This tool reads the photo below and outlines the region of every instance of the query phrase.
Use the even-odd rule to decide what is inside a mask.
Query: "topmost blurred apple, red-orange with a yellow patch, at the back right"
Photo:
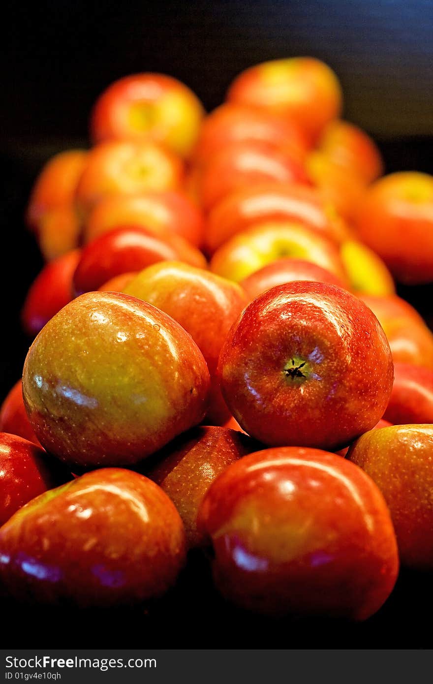
[[[228,102],[262,107],[293,121],[316,140],[342,107],[339,80],[313,57],[289,57],[252,66],[235,78]]]

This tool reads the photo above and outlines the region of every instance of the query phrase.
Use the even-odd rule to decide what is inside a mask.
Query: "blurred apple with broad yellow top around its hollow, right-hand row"
[[[317,264],[348,285],[338,247],[309,226],[292,221],[255,224],[226,241],[211,259],[211,271],[239,282],[283,258]]]

